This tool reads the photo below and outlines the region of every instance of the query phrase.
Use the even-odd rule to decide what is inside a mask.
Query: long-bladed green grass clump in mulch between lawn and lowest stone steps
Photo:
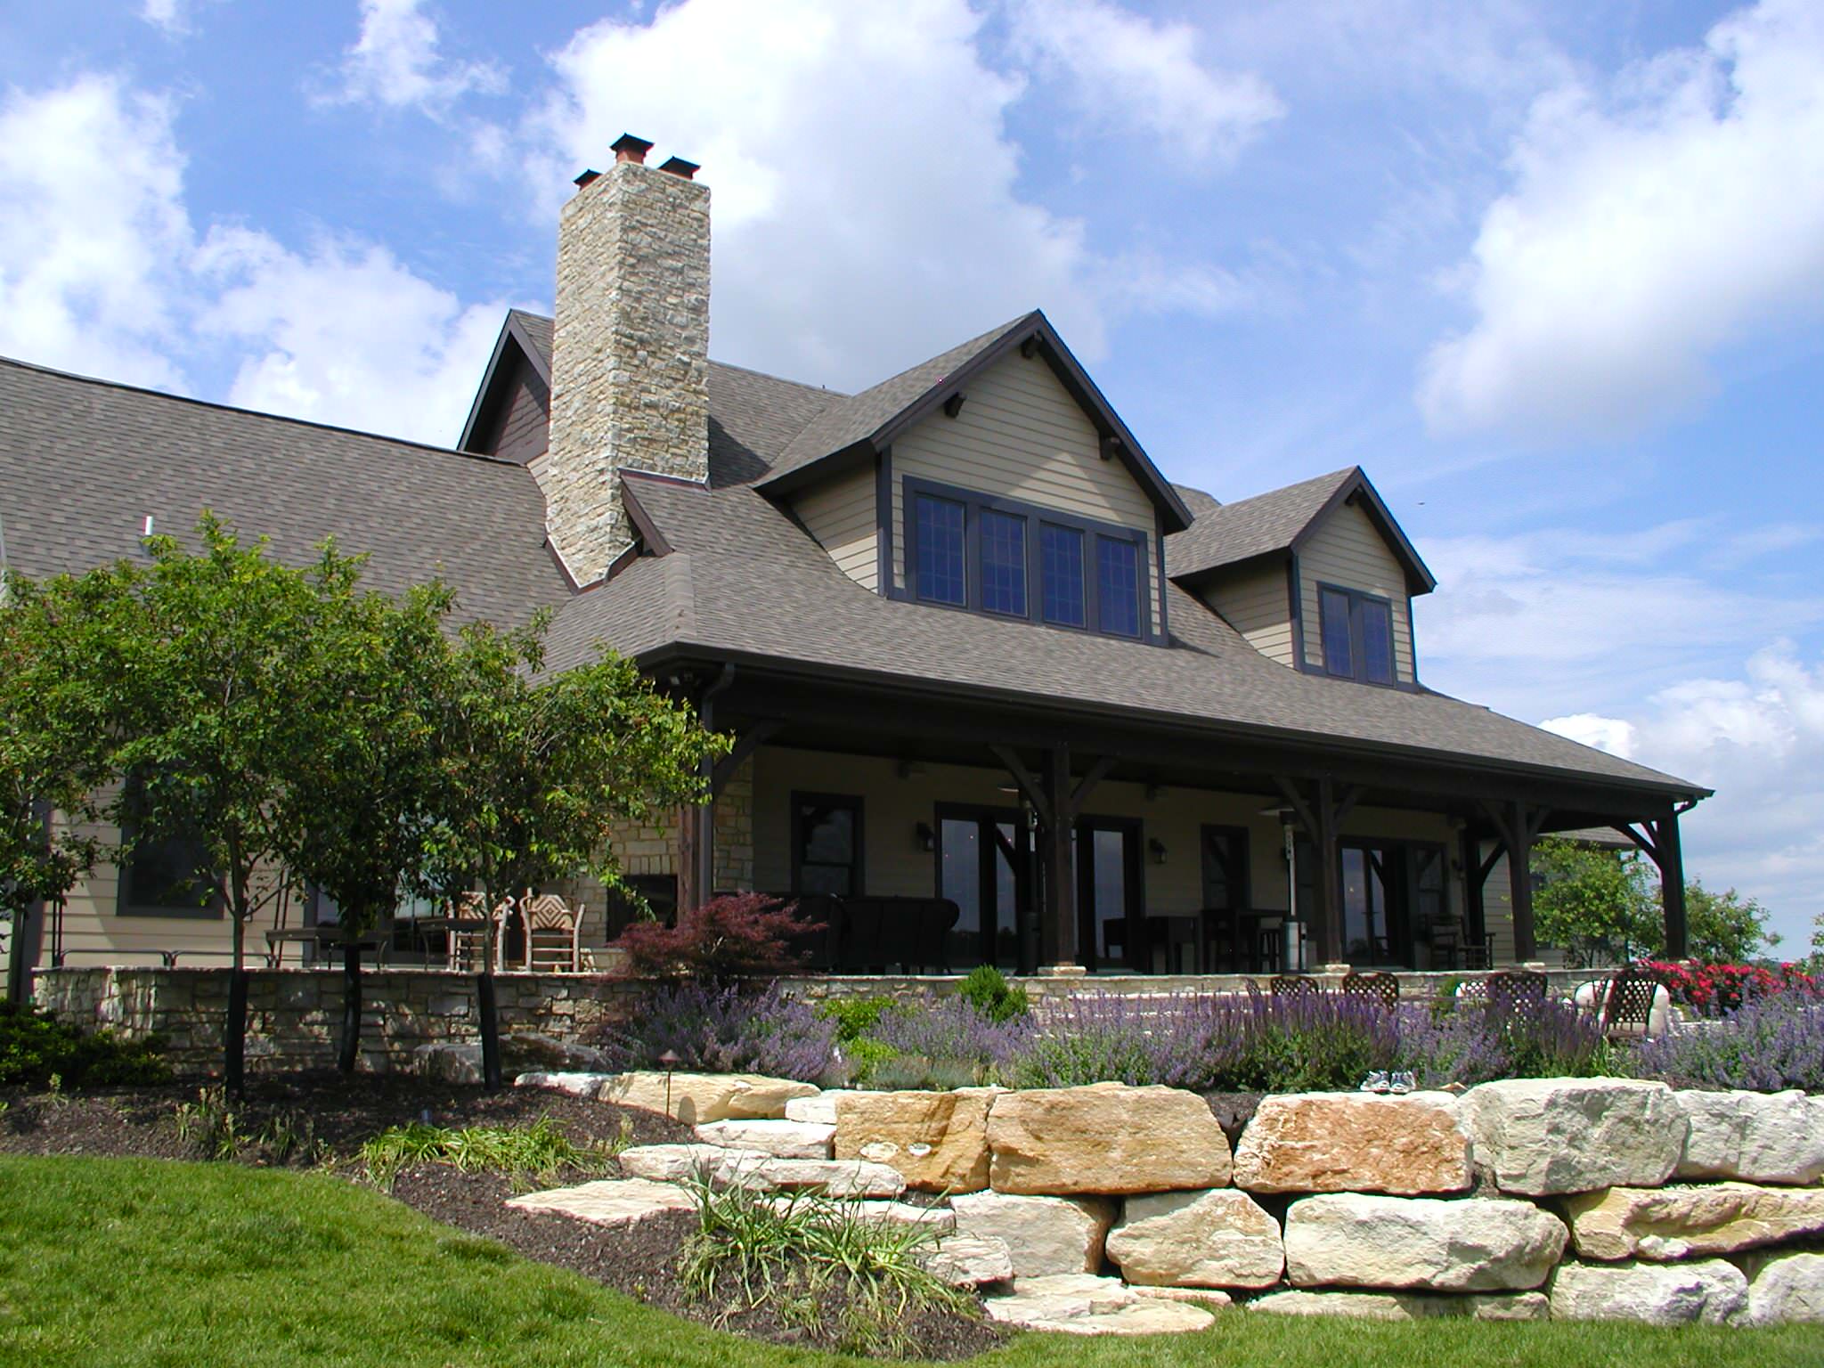
[[[697,1229],[679,1255],[684,1295],[717,1324],[772,1306],[806,1339],[861,1357],[907,1357],[928,1311],[976,1317],[974,1297],[925,1268],[930,1222],[888,1222],[859,1202],[688,1184]]]

